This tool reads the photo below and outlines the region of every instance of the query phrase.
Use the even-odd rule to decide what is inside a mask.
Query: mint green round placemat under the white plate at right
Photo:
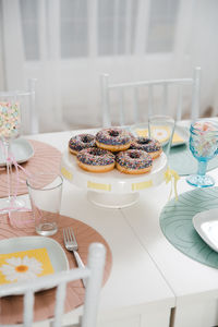
[[[194,215],[218,208],[218,187],[195,189],[170,201],[162,209],[159,220],[168,241],[189,257],[218,268],[218,253],[198,235],[192,225]]]

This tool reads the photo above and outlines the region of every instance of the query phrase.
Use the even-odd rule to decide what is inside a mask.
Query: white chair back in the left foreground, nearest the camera
[[[64,310],[66,283],[76,279],[87,278],[81,327],[95,327],[97,322],[97,308],[102,282],[105,257],[105,246],[101,243],[93,243],[88,249],[88,262],[86,267],[57,272],[52,276],[44,276],[33,280],[32,282],[22,281],[0,286],[0,298],[13,295],[17,292],[20,294],[24,294],[23,326],[31,327],[33,324],[34,293],[40,289],[57,287],[52,327],[60,327]]]

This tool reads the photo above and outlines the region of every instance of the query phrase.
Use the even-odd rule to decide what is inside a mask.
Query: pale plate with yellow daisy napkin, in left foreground
[[[66,255],[52,239],[24,237],[0,241],[0,284],[68,269]]]

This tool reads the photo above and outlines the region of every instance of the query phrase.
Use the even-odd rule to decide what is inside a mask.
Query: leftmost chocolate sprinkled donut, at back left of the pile
[[[78,134],[69,141],[69,150],[73,155],[77,155],[84,148],[95,147],[95,136],[92,134]]]

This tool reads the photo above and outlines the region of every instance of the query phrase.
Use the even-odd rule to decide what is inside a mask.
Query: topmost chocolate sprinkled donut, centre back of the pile
[[[124,129],[102,129],[96,134],[96,144],[99,148],[110,152],[123,152],[131,145],[131,134]]]

